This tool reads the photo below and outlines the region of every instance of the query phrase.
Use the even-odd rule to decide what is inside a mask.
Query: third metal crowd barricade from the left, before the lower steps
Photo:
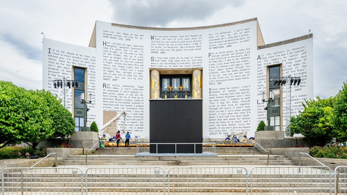
[[[168,194],[248,194],[244,167],[172,167],[168,170]]]

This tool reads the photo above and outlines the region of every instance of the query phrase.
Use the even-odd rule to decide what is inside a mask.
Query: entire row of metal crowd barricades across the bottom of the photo
[[[347,166],[24,167],[2,170],[0,194],[337,195],[346,178]]]

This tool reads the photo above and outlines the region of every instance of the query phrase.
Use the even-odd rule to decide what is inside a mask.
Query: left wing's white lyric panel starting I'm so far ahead
[[[72,110],[72,87],[73,83],[70,82],[70,87],[63,83],[66,80],[74,80],[72,78],[72,71],[74,67],[87,68],[88,70],[88,94],[92,94],[94,100],[98,100],[100,94],[96,92],[95,74],[96,68],[96,53],[94,48],[87,48],[83,46],[62,43],[54,40],[43,39],[43,88],[50,91],[53,95],[57,95],[62,99],[62,105],[70,112]],[[63,86],[54,88],[53,80],[62,80]],[[56,82],[57,84],[57,82]],[[64,95],[65,86],[65,95]],[[64,98],[65,96],[65,98]],[[92,121],[97,121],[96,112],[98,101],[94,101],[88,105],[90,111],[87,112],[87,123],[91,124]]]

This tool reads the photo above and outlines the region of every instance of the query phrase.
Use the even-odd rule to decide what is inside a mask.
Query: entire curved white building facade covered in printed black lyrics
[[[73,66],[87,68],[87,91],[95,97],[94,104],[88,105],[88,124],[95,120],[99,127],[105,123],[105,111],[126,111],[126,131],[142,138],[149,136],[149,99],[160,97],[159,91],[151,96],[152,69],[161,74],[202,70],[201,77],[193,77],[192,82],[200,80],[203,136],[211,138],[239,131],[247,131],[251,137],[259,121],[266,120],[261,103],[261,93],[266,91],[266,66],[280,64],[282,76],[303,78],[301,86],[291,88],[292,115],[304,98],[313,97],[312,38],[257,49],[256,20],[170,30],[97,21],[95,41],[96,49],[44,39],[43,88],[63,99],[52,80],[64,76],[71,79]],[[71,90],[66,95],[71,108]],[[285,101],[286,96],[282,97]],[[121,122],[117,128],[121,128]]]

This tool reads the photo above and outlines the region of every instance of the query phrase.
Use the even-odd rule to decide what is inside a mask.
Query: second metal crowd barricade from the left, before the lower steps
[[[86,170],[85,191],[165,194],[165,172],[161,167],[91,167]]]

